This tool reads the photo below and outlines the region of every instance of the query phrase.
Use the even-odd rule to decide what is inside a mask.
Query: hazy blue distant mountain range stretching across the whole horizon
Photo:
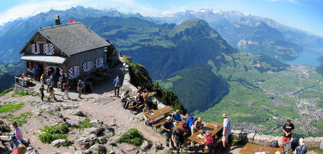
[[[61,22],[69,19],[98,17],[136,17],[157,24],[180,24],[185,20],[199,18],[206,21],[229,44],[247,51],[273,55],[283,59],[295,59],[303,50],[323,51],[323,39],[304,31],[281,25],[272,19],[245,15],[237,11],[216,11],[203,9],[199,11],[179,12],[173,16],[155,18],[143,17],[140,14],[122,14],[111,9],[97,10],[82,6],[72,7],[65,11],[50,10],[36,16],[19,19],[0,26],[0,61],[15,62],[25,42],[40,27],[53,25],[53,19],[60,15]],[[104,23],[105,21],[102,21]],[[103,31],[102,23],[96,23]],[[100,33],[98,31],[97,33]]]

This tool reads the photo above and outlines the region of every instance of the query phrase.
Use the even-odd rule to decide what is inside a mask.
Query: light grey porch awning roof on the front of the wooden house
[[[39,62],[45,61],[45,62],[49,62],[49,63],[62,64],[66,60],[66,57],[25,54],[20,59],[21,60],[30,60],[30,61],[39,61]]]

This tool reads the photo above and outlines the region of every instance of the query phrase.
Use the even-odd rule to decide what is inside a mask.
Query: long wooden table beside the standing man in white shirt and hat
[[[215,125],[218,125],[217,128],[215,128]],[[223,125],[221,125],[221,123],[211,122],[211,123],[207,123],[202,129],[205,130],[207,133],[212,133],[212,136],[214,136],[222,128],[223,128]],[[197,138],[197,135],[200,134],[200,131],[201,130],[195,132],[193,135],[188,137],[188,139],[192,140],[192,141],[195,141],[195,142],[197,142],[198,144],[201,145],[204,142],[204,139],[200,138],[200,137]]]

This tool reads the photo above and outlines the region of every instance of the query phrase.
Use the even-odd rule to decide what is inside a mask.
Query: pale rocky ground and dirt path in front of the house
[[[11,97],[13,92],[10,92],[5,96],[0,97],[1,105],[9,103],[18,104],[20,102],[25,102],[25,105],[14,113],[2,113],[0,116],[7,116],[9,114],[19,116],[21,113],[31,112],[32,115],[27,118],[27,123],[22,124],[20,127],[23,131],[24,137],[28,137],[30,139],[32,146],[37,149],[39,153],[84,153],[86,148],[82,143],[88,142],[84,140],[89,139],[89,136],[92,136],[92,139],[102,139],[105,136],[107,141],[102,142],[101,144],[107,149],[107,152],[143,153],[143,151],[138,147],[125,143],[119,144],[116,142],[122,134],[131,128],[138,129],[143,136],[152,141],[152,143],[160,141],[165,145],[164,137],[160,136],[159,133],[156,133],[151,127],[143,125],[142,113],[136,114],[135,112],[135,114],[132,114],[130,110],[124,110],[121,107],[119,98],[114,97],[113,80],[116,75],[121,76],[122,79],[122,64],[115,68],[111,68],[109,71],[111,78],[103,81],[100,85],[93,87],[93,92],[83,95],[81,100],[75,99],[78,94],[73,91],[69,93],[72,100],[62,99],[61,96],[63,93],[56,91],[57,101],[51,100],[43,102],[38,96]],[[71,146],[61,147],[42,143],[38,138],[38,135],[41,133],[39,129],[43,126],[60,124],[76,126],[81,120],[85,119],[85,117],[94,121],[93,123],[99,125],[99,128],[102,127],[102,129],[105,129],[103,136],[93,136],[91,133],[91,131],[99,131],[97,130],[98,128],[70,128],[71,131],[68,133],[68,139],[73,141],[74,144]],[[10,119],[3,120],[7,124],[11,123],[11,121],[9,121]],[[103,124],[96,121],[102,121]],[[113,129],[114,132],[110,131],[111,129]],[[238,153],[240,148],[241,147],[237,146],[232,147],[232,150],[227,153]],[[169,148],[156,151],[153,147],[147,151],[147,153],[169,152]],[[194,151],[189,151],[189,153],[194,153]]]

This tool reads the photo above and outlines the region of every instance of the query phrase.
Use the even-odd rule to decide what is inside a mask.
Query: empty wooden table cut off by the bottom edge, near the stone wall
[[[246,145],[243,146],[243,148],[239,151],[239,153],[249,154],[249,153],[263,152],[263,151],[265,151],[266,154],[275,153],[276,151],[279,151],[281,153],[283,152],[283,148],[247,143]]]

